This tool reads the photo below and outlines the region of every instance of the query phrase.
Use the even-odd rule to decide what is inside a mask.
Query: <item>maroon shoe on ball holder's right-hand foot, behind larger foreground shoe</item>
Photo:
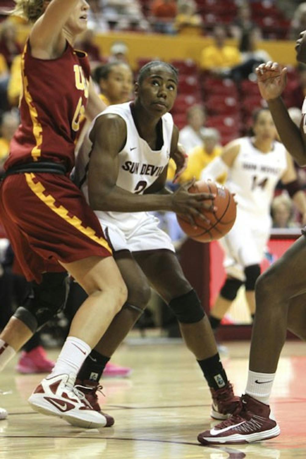
[[[212,404],[211,417],[218,420],[228,419],[237,409],[240,397],[236,397],[233,392],[233,386],[228,381],[226,386],[221,389],[212,389],[210,387]]]

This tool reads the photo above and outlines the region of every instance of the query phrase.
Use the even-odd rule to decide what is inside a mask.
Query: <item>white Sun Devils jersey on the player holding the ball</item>
[[[135,194],[143,194],[146,188],[152,185],[162,174],[169,162],[171,139],[173,131],[173,119],[170,113],[161,117],[163,144],[161,150],[152,150],[146,140],[139,136],[131,112],[131,102],[124,104],[111,105],[100,113],[92,122],[89,132],[83,141],[76,161],[76,178],[77,182],[83,182],[82,191],[88,202],[88,183],[87,170],[89,163],[89,154],[92,149],[92,142],[89,139],[90,131],[95,120],[112,113],[119,115],[127,126],[127,140],[119,152],[119,172],[116,185],[124,190]],[[103,154],[103,151],[101,152]],[[95,209],[94,209],[95,210]],[[102,212],[96,211],[96,215],[101,219],[110,221],[116,220],[122,230],[132,229],[135,224],[146,218],[146,212],[121,213],[121,212]]]

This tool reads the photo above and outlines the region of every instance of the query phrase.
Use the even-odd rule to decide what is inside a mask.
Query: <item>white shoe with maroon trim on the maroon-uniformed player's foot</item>
[[[92,408],[83,392],[74,386],[76,376],[56,375],[45,378],[28,399],[39,413],[59,416],[71,425],[95,429],[105,427],[106,416]]]

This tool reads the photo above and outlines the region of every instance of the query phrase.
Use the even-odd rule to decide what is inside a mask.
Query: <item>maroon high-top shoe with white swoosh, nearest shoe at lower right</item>
[[[243,395],[236,412],[228,420],[198,435],[204,445],[252,443],[277,437],[280,429],[270,417],[269,405]]]

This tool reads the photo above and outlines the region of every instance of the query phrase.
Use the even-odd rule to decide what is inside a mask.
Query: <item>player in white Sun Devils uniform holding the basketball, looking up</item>
[[[171,210],[192,219],[204,207],[209,218],[204,201],[209,195],[189,195],[190,182],[173,194],[165,189],[167,164],[178,142],[178,129],[168,113],[177,85],[178,74],[171,65],[155,61],[142,67],[135,101],[110,106],[96,117],[80,150],[76,175],[113,248],[128,286],[128,301],[95,348],[91,357],[96,362],[86,360],[78,382],[96,380],[95,392],[103,359],[111,357],[143,312],[150,283],[175,313],[186,345],[203,371],[213,398],[211,415],[226,419],[237,407],[237,397],[220,362],[209,320],[184,277],[170,238],[147,213]],[[99,409],[93,397],[90,401]]]

